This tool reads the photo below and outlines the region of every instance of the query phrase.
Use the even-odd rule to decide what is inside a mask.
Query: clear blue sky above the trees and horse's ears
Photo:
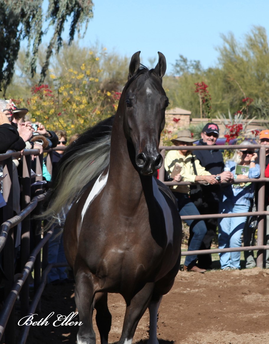
[[[204,68],[217,64],[215,47],[220,34],[232,31],[243,40],[253,25],[269,33],[269,0],[95,0],[94,18],[89,22],[81,46],[98,41],[128,58],[141,50],[141,62],[157,59],[161,51],[167,71],[179,54],[200,60]],[[156,60],[157,61],[157,60]]]

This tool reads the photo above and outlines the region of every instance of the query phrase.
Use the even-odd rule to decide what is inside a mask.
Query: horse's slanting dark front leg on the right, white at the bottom
[[[154,283],[147,283],[126,307],[122,333],[118,344],[131,344],[139,320],[146,311],[151,300]]]

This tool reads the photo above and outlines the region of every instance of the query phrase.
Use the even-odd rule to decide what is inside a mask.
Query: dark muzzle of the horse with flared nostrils
[[[136,165],[142,175],[152,175],[155,173],[163,163],[163,158],[160,153],[146,155],[140,153],[136,157]]]

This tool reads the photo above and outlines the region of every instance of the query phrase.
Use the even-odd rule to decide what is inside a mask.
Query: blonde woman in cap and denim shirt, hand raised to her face
[[[260,166],[255,162],[257,153],[254,148],[244,146],[252,144],[249,141],[240,143],[231,161],[227,161],[234,179],[259,178]],[[238,166],[236,168],[236,166]],[[241,167],[242,166],[242,167]],[[238,172],[241,170],[241,172]],[[237,174],[238,173],[238,174]],[[220,203],[220,213],[246,213],[249,211],[254,197],[255,183],[240,183],[223,187],[223,200]],[[247,216],[226,217],[218,222],[218,247],[240,247],[241,235]],[[223,270],[240,269],[240,252],[224,252],[219,254],[220,265]]]

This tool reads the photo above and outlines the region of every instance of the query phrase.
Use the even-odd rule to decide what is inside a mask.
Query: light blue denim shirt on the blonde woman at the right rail
[[[234,161],[227,161],[230,166],[231,172],[235,175]],[[260,176],[260,165],[256,164],[248,171],[248,178],[259,178]],[[251,201],[254,197],[255,183],[244,183],[245,185],[240,186],[239,184],[224,186],[223,191],[223,202],[228,201],[237,205],[247,205],[250,206]]]

